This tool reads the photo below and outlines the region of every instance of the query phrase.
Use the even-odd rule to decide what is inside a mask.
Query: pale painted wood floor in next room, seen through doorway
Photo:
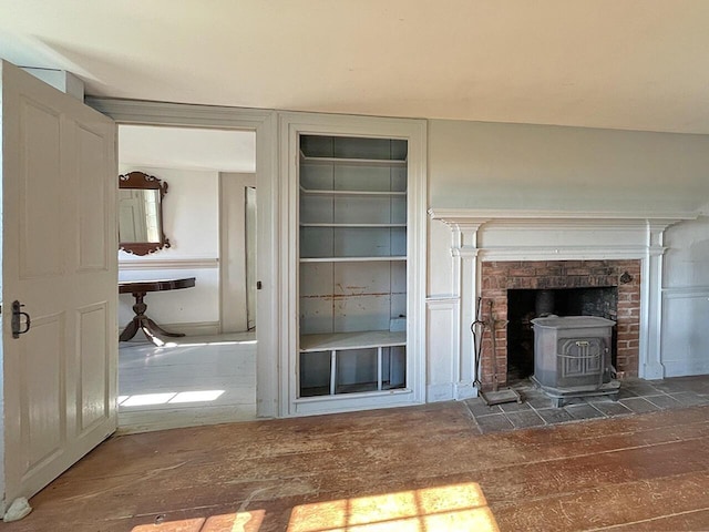
[[[255,332],[120,344],[120,432],[254,419]]]

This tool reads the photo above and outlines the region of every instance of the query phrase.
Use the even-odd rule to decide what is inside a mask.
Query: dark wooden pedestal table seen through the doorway
[[[181,288],[191,288],[195,286],[194,277],[185,277],[183,279],[157,279],[157,280],[121,280],[119,282],[119,294],[133,294],[135,305],[133,305],[133,320],[123,329],[119,341],[127,341],[135,336],[141,329],[145,336],[156,346],[164,342],[161,336],[181,337],[182,332],[167,332],[161,328],[155,321],[145,316],[147,305],[143,303],[143,298],[148,291],[178,290]]]

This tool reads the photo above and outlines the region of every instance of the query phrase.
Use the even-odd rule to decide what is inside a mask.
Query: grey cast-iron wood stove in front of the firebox
[[[534,324],[533,382],[561,407],[571,398],[618,398],[610,346],[615,321],[596,316],[551,316]]]

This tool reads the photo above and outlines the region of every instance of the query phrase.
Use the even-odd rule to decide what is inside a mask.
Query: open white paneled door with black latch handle
[[[116,427],[115,124],[0,62],[3,504]],[[13,337],[12,303],[23,305]],[[17,313],[14,313],[17,314]]]

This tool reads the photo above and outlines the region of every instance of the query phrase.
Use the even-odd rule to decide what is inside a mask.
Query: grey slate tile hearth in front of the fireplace
[[[464,401],[482,433],[709,405],[709,376],[624,379],[617,401],[589,397],[572,399],[562,408],[552,408],[551,400],[528,380],[513,388],[522,396],[522,403],[489,407],[481,398]]]

